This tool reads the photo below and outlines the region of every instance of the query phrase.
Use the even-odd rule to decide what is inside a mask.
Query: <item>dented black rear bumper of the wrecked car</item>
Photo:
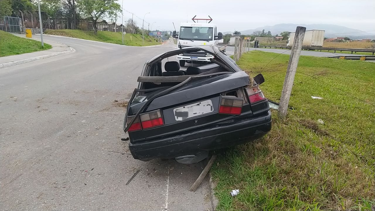
[[[271,112],[257,117],[242,117],[217,122],[198,130],[159,139],[129,143],[133,158],[175,158],[200,151],[236,146],[258,139],[271,130]]]

